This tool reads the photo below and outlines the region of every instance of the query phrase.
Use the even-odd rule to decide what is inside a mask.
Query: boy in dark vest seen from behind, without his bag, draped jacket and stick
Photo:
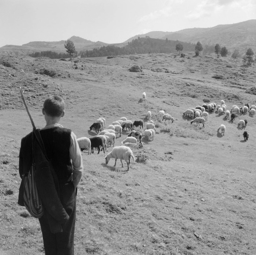
[[[40,135],[44,142],[47,157],[51,161],[58,179],[59,199],[61,212],[63,212],[56,215],[60,211],[59,208],[54,207],[50,210],[44,208],[44,215],[39,219],[45,254],[74,254],[76,191],[83,175],[83,159],[75,134],[59,124],[61,117],[65,114],[64,109],[64,100],[59,96],[48,97],[42,108],[46,125],[40,130]],[[29,171],[32,165],[31,144],[32,132],[21,140],[20,177]],[[47,181],[47,176],[45,179]],[[21,185],[18,204],[24,206],[22,196]],[[50,200],[49,197],[49,202]],[[54,228],[56,222],[59,224],[59,228]]]

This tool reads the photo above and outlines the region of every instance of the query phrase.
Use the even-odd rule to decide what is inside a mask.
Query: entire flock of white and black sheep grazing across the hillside
[[[142,100],[147,101],[145,92],[143,92],[142,94]],[[204,127],[205,121],[208,120],[208,115],[211,113],[214,113],[216,110],[219,116],[224,114],[227,120],[229,119],[229,117],[231,117],[232,123],[237,116],[240,116],[242,114],[245,115],[246,113],[249,113],[249,115],[251,116],[253,115],[256,116],[256,105],[252,105],[251,107],[249,106],[249,104],[245,104],[245,106],[239,106],[239,107],[237,105],[233,105],[229,111],[227,110],[227,106],[225,105],[224,100],[221,100],[220,105],[216,105],[215,103],[209,103],[209,104],[204,103],[202,106],[197,105],[195,108],[188,108],[183,113],[183,116],[185,117],[187,115],[191,117],[192,118],[191,124],[195,122],[196,125],[198,124],[200,126],[200,123],[201,123]],[[173,117],[170,114],[165,113],[163,110],[159,111],[158,116],[161,117],[162,121],[171,120],[172,123],[174,121]],[[149,139],[154,140],[155,133],[157,133],[157,131],[155,129],[154,121],[151,120],[150,111],[147,112],[147,119],[149,122],[146,124],[146,129],[144,130],[144,136],[146,140],[149,140]],[[247,124],[247,120],[240,120],[238,122],[238,127],[245,129],[246,124]],[[125,138],[121,142],[122,144],[121,146],[114,147],[113,150],[106,155],[105,160],[106,160],[106,164],[108,164],[110,158],[114,158],[115,159],[114,167],[116,167],[117,159],[120,159],[122,167],[124,167],[122,162],[122,160],[124,160],[128,166],[127,170],[129,170],[131,159],[135,161],[131,148],[143,147],[142,133],[139,131],[133,130],[133,128],[140,127],[143,130],[143,120],[135,120],[132,122],[131,120],[127,120],[126,117],[121,117],[120,120],[114,121],[111,125],[107,127],[107,129],[104,130],[105,126],[106,126],[105,118],[100,117],[90,126],[90,131],[94,129],[95,132],[98,134],[97,136],[94,136],[92,138],[81,137],[77,139],[81,151],[87,148],[88,155],[89,155],[91,153],[94,153],[94,148],[98,148],[98,154],[100,150],[103,150],[103,152],[105,153],[107,146],[111,147],[111,145],[113,144],[113,147],[114,147],[114,144],[116,141],[116,135],[119,134],[119,137],[121,137],[122,131],[124,131],[124,129],[125,131],[127,131],[127,128],[128,128],[128,131],[130,130],[131,133],[128,135],[127,138]],[[218,127],[217,132],[220,131],[222,135],[225,135],[225,130],[226,130],[226,126],[224,124],[221,124]],[[248,131],[244,130],[243,136],[244,136],[244,140],[247,141],[249,137]]]

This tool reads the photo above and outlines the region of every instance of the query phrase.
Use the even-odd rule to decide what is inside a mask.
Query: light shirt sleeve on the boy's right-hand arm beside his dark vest
[[[78,186],[80,180],[83,176],[83,158],[82,153],[79,148],[78,142],[76,140],[76,135],[71,132],[71,144],[69,147],[69,155],[72,160],[73,165],[73,184],[76,187]]]

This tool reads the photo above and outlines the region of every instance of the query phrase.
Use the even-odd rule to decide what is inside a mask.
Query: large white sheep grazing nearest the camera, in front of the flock
[[[135,158],[132,154],[132,150],[127,147],[127,146],[117,146],[114,147],[113,150],[111,152],[109,152],[108,155],[106,155],[105,159],[106,159],[106,165],[108,165],[109,159],[110,158],[114,158],[116,159],[120,159],[121,163],[122,163],[122,167],[124,167],[122,159],[127,163],[128,169],[127,171],[129,171],[130,169],[130,164],[131,164],[131,158],[133,159],[133,161],[135,161]],[[116,161],[114,166],[116,167]]]

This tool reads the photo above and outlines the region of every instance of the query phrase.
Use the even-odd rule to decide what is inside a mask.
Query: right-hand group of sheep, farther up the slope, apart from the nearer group
[[[236,117],[241,116],[242,114],[245,115],[246,113],[249,113],[249,115],[251,115],[252,117],[254,115],[256,116],[256,105],[251,105],[251,107],[249,106],[249,104],[245,104],[244,106],[239,106],[239,107],[237,105],[233,105],[229,111],[227,110],[227,106],[224,100],[221,100],[220,105],[216,105],[215,103],[209,103],[209,104],[203,104],[202,106],[197,105],[195,108],[188,108],[183,113],[183,116],[187,115],[192,118],[195,117],[195,119],[191,121],[191,124],[193,122],[196,122],[196,125],[198,124],[200,126],[200,123],[202,123],[204,127],[204,122],[208,120],[208,114],[214,113],[215,110],[217,110],[217,113],[219,116],[223,114],[226,115],[227,120],[230,117],[232,123],[236,119]],[[238,127],[245,129],[247,123],[248,121],[246,119],[240,120],[238,122]],[[226,126],[224,124],[221,124],[218,127],[217,132],[221,131],[221,134],[225,135],[225,130],[226,130]],[[244,140],[247,141],[249,137],[248,131],[245,130],[243,133],[243,136],[244,136]]]

